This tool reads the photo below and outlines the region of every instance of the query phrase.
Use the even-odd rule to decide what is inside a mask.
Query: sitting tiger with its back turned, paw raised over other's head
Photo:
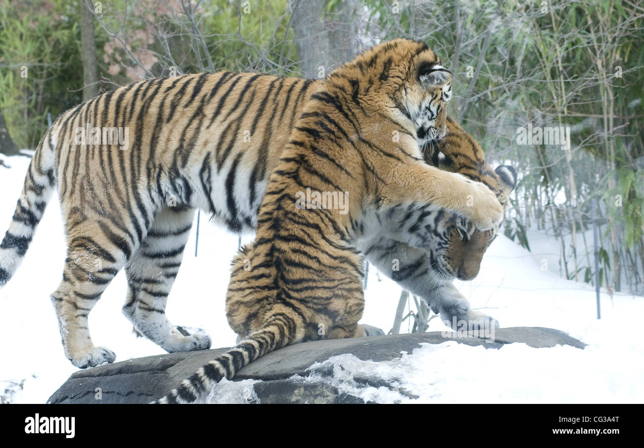
[[[419,124],[427,122],[419,114],[450,97],[451,80],[426,44],[405,39],[379,44],[328,75],[270,174],[256,238],[232,261],[226,316],[242,341],[159,403],[194,402],[283,346],[365,336],[358,324],[365,302],[361,240],[384,236],[422,251],[437,224],[451,225],[450,234],[464,240],[475,230],[488,236],[498,229],[505,209],[497,194],[429,165],[417,141]],[[438,116],[445,120],[445,114],[440,107]],[[460,146],[460,138],[445,138],[443,145]],[[493,174],[486,169],[482,176]],[[303,191],[345,192],[348,210],[319,201],[303,205]],[[498,194],[509,191],[506,185]],[[455,216],[444,220],[448,212]]]

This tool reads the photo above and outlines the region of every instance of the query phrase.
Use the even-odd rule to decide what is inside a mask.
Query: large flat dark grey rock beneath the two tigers
[[[325,371],[328,367],[325,368],[324,365],[316,364],[310,369],[312,364],[343,353],[352,353],[361,360],[388,361],[401,357],[401,352],[412,353],[423,342],[440,344],[446,341],[485,348],[500,348],[513,342],[524,342],[535,348],[553,347],[557,344],[580,349],[585,347],[583,342],[562,331],[531,327],[498,328],[493,338],[475,332],[467,333],[466,336],[451,331],[433,331],[303,342],[273,351],[252,362],[238,372],[234,381],[225,382],[216,388],[217,399],[261,403],[362,403],[361,398],[341,393],[330,382],[305,380],[312,373],[316,374],[316,378],[332,375],[330,371]],[[189,377],[196,369],[226,350],[227,348],[218,348],[156,355],[77,371],[48,402],[148,403],[166,395],[178,381]],[[360,381],[360,378],[357,380]],[[363,382],[368,386],[388,386],[386,382],[381,384],[381,381],[373,377],[363,378]],[[413,398],[412,395],[408,396]]]

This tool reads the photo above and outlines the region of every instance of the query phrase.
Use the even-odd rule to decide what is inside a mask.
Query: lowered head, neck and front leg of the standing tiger
[[[500,165],[493,170],[478,142],[452,118],[447,117],[445,135],[423,148],[423,157],[429,165],[488,185],[504,209],[509,208],[509,195],[516,187],[514,167]],[[422,249],[381,234],[361,240],[358,247],[379,272],[424,299],[446,326],[468,331],[499,328],[497,319],[471,310],[468,299],[453,285],[455,278],[466,281],[478,275],[498,228],[475,229],[462,216],[445,210],[437,210],[434,223],[433,240]],[[406,225],[412,230],[417,221],[407,219]]]

